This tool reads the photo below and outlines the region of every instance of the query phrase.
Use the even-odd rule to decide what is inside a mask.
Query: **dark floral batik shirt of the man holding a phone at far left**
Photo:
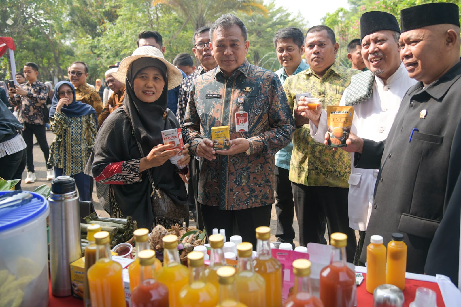
[[[9,102],[13,106],[17,106],[19,110],[18,120],[22,124],[45,125],[43,108],[48,98],[48,87],[45,83],[35,81],[20,84],[27,95],[21,96],[15,94],[9,98]]]

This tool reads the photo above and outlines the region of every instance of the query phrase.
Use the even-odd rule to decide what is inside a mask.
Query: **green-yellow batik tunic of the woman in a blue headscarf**
[[[83,173],[95,145],[97,124],[94,114],[68,117],[56,112],[50,118],[50,130],[56,134],[50,145],[48,164],[63,169],[63,175]]]

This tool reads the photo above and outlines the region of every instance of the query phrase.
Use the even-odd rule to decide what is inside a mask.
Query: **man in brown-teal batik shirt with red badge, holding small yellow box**
[[[237,224],[243,241],[255,246],[255,228],[271,219],[275,153],[290,143],[295,127],[277,75],[246,60],[247,36],[232,14],[213,23],[218,67],[194,80],[183,137],[201,157],[198,202],[207,233],[224,228],[230,237]],[[230,149],[213,150],[217,126],[229,127]]]

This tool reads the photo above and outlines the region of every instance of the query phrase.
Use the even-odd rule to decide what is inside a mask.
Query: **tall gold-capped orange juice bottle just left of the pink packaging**
[[[282,266],[272,257],[269,239],[271,228],[260,226],[256,228],[256,251],[258,258],[254,264],[254,272],[260,274],[266,281],[266,306],[282,306]]]

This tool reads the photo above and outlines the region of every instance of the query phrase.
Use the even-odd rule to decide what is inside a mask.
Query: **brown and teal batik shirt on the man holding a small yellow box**
[[[236,132],[238,99],[248,112],[248,132]],[[198,76],[192,85],[183,122],[183,137],[196,154],[212,127],[229,126],[230,138],[245,138],[249,155],[201,158],[199,203],[238,210],[274,203],[275,153],[290,143],[295,130],[282,84],[274,73],[245,61],[231,76],[219,67]]]

